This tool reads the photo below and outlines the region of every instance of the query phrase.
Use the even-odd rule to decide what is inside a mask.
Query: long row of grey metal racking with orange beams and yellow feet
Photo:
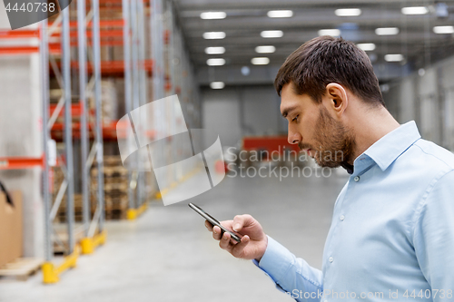
[[[43,151],[41,158],[0,158],[0,169],[28,169],[39,166],[43,169],[43,200],[44,200],[44,255],[43,265],[44,283],[57,282],[61,273],[68,268],[74,268],[79,253],[91,253],[98,244],[104,243],[104,173],[103,173],[103,138],[108,140],[116,139],[116,124],[102,124],[102,102],[101,102],[101,75],[103,74],[122,74],[124,75],[125,110],[131,112],[133,109],[143,104],[159,100],[166,95],[173,93],[184,94],[183,98],[191,98],[188,87],[192,85],[192,72],[187,71],[191,67],[189,58],[183,54],[183,44],[177,50],[173,38],[173,3],[169,0],[150,0],[150,20],[145,15],[147,5],[143,0],[122,0],[123,20],[100,20],[99,0],[90,0],[91,11],[86,12],[86,0],[77,1],[77,21],[70,20],[70,9],[74,9],[74,4],[69,5],[52,22],[44,20],[40,22],[39,29],[26,29],[10,31],[6,34],[9,38],[36,38],[39,36],[39,47],[13,46],[0,48],[0,54],[37,54],[39,53],[41,64],[41,86],[42,86],[42,115],[43,115]],[[101,0],[103,1],[103,0]],[[104,0],[112,1],[112,0]],[[150,26],[150,36],[145,34],[145,26]],[[87,29],[92,28],[92,41],[87,42]],[[104,29],[101,26],[119,27],[123,26],[121,36],[123,41],[111,38],[118,38],[118,30]],[[74,36],[70,34],[71,28],[77,28],[77,41],[75,44],[71,40]],[[164,33],[166,33],[164,35]],[[181,33],[180,33],[181,34]],[[58,39],[58,36],[60,37]],[[104,37],[104,40],[101,39]],[[147,39],[145,39],[147,37]],[[166,37],[166,38],[165,38]],[[56,40],[60,40],[56,42]],[[106,39],[107,38],[107,39]],[[182,37],[179,36],[179,39]],[[146,41],[151,41],[151,60],[148,57]],[[123,62],[101,62],[100,45],[123,45]],[[77,61],[71,59],[71,48],[77,48]],[[75,54],[75,53],[74,53]],[[90,55],[92,54],[92,55]],[[60,55],[58,63],[54,55]],[[176,84],[176,71],[174,66],[175,55],[182,58],[183,72],[186,70],[188,76],[180,78],[181,89]],[[59,68],[60,66],[60,68]],[[77,77],[71,78],[72,68],[78,69],[79,84],[79,103],[72,103],[72,81]],[[152,70],[151,70],[152,69]],[[148,73],[153,71],[152,89],[153,100],[148,100]],[[56,82],[59,83],[63,94],[56,106],[49,105],[49,74],[53,73]],[[77,74],[77,73],[75,73]],[[91,75],[91,78],[90,76]],[[188,82],[189,81],[189,82]],[[95,118],[94,124],[90,127],[88,116],[87,97],[92,93],[95,99]],[[180,100],[183,100],[181,97]],[[191,100],[189,101],[191,102]],[[64,122],[58,122],[57,118],[62,115],[64,110]],[[52,114],[51,114],[52,113]],[[81,122],[72,122],[74,115],[80,115]],[[153,131],[167,132],[166,127],[172,127],[173,109],[168,107],[159,108],[153,112]],[[171,122],[168,123],[169,119]],[[94,132],[94,142],[90,146],[92,137],[90,128]],[[64,181],[59,188],[55,200],[50,191],[50,165],[48,141],[51,133],[64,133],[64,154],[57,154],[58,165],[63,170]],[[74,167],[73,167],[73,139],[81,140],[82,158],[82,196],[83,196],[83,223],[80,228],[74,228]],[[165,148],[173,148],[170,142]],[[165,149],[166,150],[166,149]],[[169,155],[160,150],[160,156]],[[94,217],[91,218],[91,202],[89,184],[89,170],[93,165],[94,158],[97,164],[97,207]],[[172,159],[170,159],[172,160]],[[139,164],[139,162],[137,163]],[[170,181],[175,181],[176,175],[173,173]],[[129,172],[129,210],[128,218],[135,219],[146,209],[147,203],[144,198],[144,173]],[[133,184],[136,184],[134,188]],[[170,184],[170,183],[169,183]],[[134,192],[134,189],[135,192]],[[55,266],[53,236],[57,238],[54,230],[53,221],[57,209],[61,205],[64,194],[66,195],[66,224],[68,245],[65,251],[65,258],[61,265]],[[82,230],[84,239],[80,245],[75,240],[75,230]]]

